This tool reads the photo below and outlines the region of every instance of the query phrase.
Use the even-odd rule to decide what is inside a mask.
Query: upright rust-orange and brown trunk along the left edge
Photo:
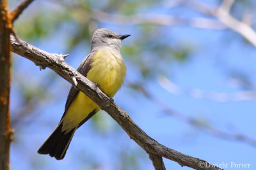
[[[0,169],[9,169],[12,127],[10,122],[10,28],[6,1],[0,0]]]

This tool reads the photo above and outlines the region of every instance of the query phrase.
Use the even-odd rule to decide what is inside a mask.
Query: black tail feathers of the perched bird
[[[63,132],[61,124],[54,129],[52,134],[44,142],[44,144],[37,151],[40,154],[49,154],[51,157],[55,157],[57,160],[63,159],[66,155],[68,146],[77,128],[72,129],[69,132]]]

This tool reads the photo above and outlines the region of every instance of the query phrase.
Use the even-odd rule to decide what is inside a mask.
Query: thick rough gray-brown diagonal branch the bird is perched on
[[[124,129],[125,132],[134,139],[138,145],[140,145],[148,154],[157,155],[158,157],[165,157],[166,159],[174,160],[181,166],[188,166],[194,169],[218,169],[218,167],[211,166],[209,168],[200,167],[202,164],[209,164],[205,160],[191,157],[183,153],[177,152],[166,146],[163,146],[154,139],[150,138],[144,131],[136,125],[129,115],[122,110],[117,104],[106,96],[92,81],[85,78],[83,75],[78,73],[74,68],[69,66],[63,59],[63,55],[52,54],[44,52],[35,46],[29,45],[28,43],[19,40],[19,42],[11,36],[12,52],[15,52],[29,60],[35,62],[36,65],[42,67],[49,67],[60,76],[65,78],[77,89],[81,90],[90,97],[100,108],[106,111],[112,118],[118,122],[118,124]],[[76,81],[74,81],[76,80]],[[76,85],[77,83],[77,85]]]

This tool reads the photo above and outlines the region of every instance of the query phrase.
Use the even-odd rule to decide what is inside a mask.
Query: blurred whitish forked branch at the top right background
[[[134,14],[134,15],[116,15],[99,10],[92,9],[90,13],[90,18],[97,20],[98,22],[106,22],[111,24],[120,25],[138,25],[138,24],[152,24],[152,25],[186,25],[190,27],[196,27],[200,29],[215,29],[223,30],[230,29],[237,32],[243,38],[247,39],[253,46],[256,47],[256,32],[250,25],[250,20],[248,22],[248,14],[245,13],[245,20],[237,20],[230,14],[230,9],[234,4],[234,0],[223,0],[220,6],[212,6],[206,3],[202,3],[196,0],[179,0],[176,3],[170,4],[172,6],[177,6],[177,4],[184,4],[203,15],[208,15],[210,17],[191,17],[184,18],[175,15],[158,15],[158,14]],[[80,6],[76,6],[81,8]],[[83,12],[83,10],[81,10]],[[88,15],[88,13],[84,13]],[[250,19],[250,18],[249,18]]]

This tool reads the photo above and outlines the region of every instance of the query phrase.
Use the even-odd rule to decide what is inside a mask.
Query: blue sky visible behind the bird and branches
[[[44,3],[42,3],[44,4]],[[36,2],[35,2],[36,5]],[[31,6],[32,8],[33,6]],[[154,11],[159,13],[159,8]],[[163,8],[164,11],[164,8]],[[181,13],[179,9],[171,13]],[[24,13],[26,16],[26,14]],[[189,15],[185,13],[184,15]],[[99,24],[113,31],[132,34],[125,39],[124,45],[136,43],[134,36],[140,36],[136,30],[138,25],[109,25]],[[47,52],[65,52],[65,34],[72,29],[72,25],[65,25],[54,32],[49,38],[30,42]],[[153,29],[160,36],[157,41],[170,44],[191,45],[194,50],[189,54],[187,62],[166,62],[164,70],[166,76],[184,89],[198,88],[207,91],[232,93],[244,90],[236,84],[230,86],[230,70],[239,70],[248,75],[255,85],[255,47],[244,43],[243,39],[232,31],[211,31],[191,27],[161,27]],[[160,31],[161,32],[160,32]],[[26,39],[24,39],[26,41]],[[145,47],[147,49],[147,47]],[[68,64],[77,68],[79,62],[90,53],[90,46],[81,44],[72,50],[67,58]],[[147,57],[156,57],[150,56]],[[189,96],[170,94],[157,83],[157,76],[151,80],[142,80],[143,76],[128,56],[124,56],[127,64],[127,78],[125,83],[145,82],[145,88],[168,104],[173,110],[180,111],[189,117],[199,117],[216,129],[230,133],[241,133],[251,138],[255,136],[255,101],[241,101],[219,103],[203,99],[194,99]],[[50,69],[39,71],[33,62],[19,56],[13,56],[13,84],[11,90],[11,110],[19,110],[20,99],[17,80],[33,87],[40,87],[44,78],[54,76]],[[161,61],[159,61],[161,62]],[[125,134],[107,113],[101,112],[100,125],[102,129],[95,128],[92,121],[86,122],[75,134],[68,148],[64,160],[57,161],[46,155],[38,155],[36,151],[44,140],[51,134],[58,124],[70,84],[58,77],[49,90],[49,101],[36,106],[35,115],[27,117],[28,124],[16,127],[15,141],[11,148],[12,169],[90,169],[91,163],[96,162],[95,169],[121,169],[129,156],[120,158],[126,151],[128,155],[136,155],[138,169],[153,169],[152,163],[145,153],[132,139]],[[151,101],[143,97],[140,92],[134,92],[124,84],[124,87],[114,97],[115,102],[121,106],[136,124],[149,136],[159,143],[179,152],[207,160],[212,164],[228,164],[225,169],[232,169],[231,162],[235,164],[251,164],[255,169],[255,146],[239,141],[228,141],[202,132],[177,118],[163,113]],[[32,120],[32,121],[31,121]],[[104,128],[106,127],[106,128]],[[172,160],[164,159],[166,169],[190,169],[180,167]]]

